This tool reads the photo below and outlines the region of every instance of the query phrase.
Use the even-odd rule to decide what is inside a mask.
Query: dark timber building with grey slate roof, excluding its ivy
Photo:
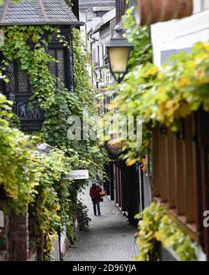
[[[65,88],[69,91],[73,91],[73,60],[72,60],[72,26],[79,26],[81,23],[77,17],[72,13],[65,1],[50,1],[45,0],[37,3],[21,3],[15,5],[10,3],[6,6],[6,1],[0,6],[0,15],[2,21],[0,26],[13,26],[18,25],[33,25],[33,24],[52,24],[60,26],[61,35],[65,36],[68,45],[71,49],[64,47],[59,40],[52,40],[47,47],[47,52],[59,63],[50,63],[49,70],[54,76],[59,77],[63,82]],[[52,3],[53,2],[53,3]],[[51,5],[51,9],[47,9],[47,5]],[[36,7],[36,10],[34,10]],[[7,9],[7,10],[6,10]],[[59,13],[57,13],[57,10]],[[4,13],[6,13],[4,15]],[[4,15],[4,16],[3,16]],[[32,49],[33,42],[29,41],[29,45]],[[1,56],[3,58],[3,56]],[[33,88],[29,84],[29,77],[26,72],[23,72],[18,68],[16,62],[9,62],[6,68],[6,75],[9,82],[5,84],[1,81],[1,91],[5,94],[9,100],[15,102],[13,111],[19,116],[22,130],[24,132],[33,132],[40,129],[44,121],[44,113],[38,106],[34,104],[31,109],[30,97],[33,93]]]

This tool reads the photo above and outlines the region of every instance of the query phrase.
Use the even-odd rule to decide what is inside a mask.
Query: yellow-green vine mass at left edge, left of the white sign
[[[20,130],[9,127],[12,102],[0,93],[0,187],[5,191],[8,203],[5,210],[21,214],[30,203],[36,217],[36,235],[50,235],[63,223],[70,222],[68,185],[62,176],[69,172],[70,159],[63,151],[52,150],[43,155],[29,146],[30,138]],[[50,258],[52,242],[47,242],[45,257]]]

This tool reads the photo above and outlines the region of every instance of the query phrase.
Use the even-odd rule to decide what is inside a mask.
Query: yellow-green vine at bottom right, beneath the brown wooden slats
[[[198,245],[189,235],[178,228],[164,207],[157,203],[151,203],[142,214],[143,219],[139,221],[139,233],[136,235],[139,255],[135,257],[135,260],[148,260],[148,256],[150,256],[150,260],[158,260],[160,255],[158,255],[158,251],[154,252],[157,242],[164,248],[172,248],[182,261],[196,259]],[[139,219],[140,216],[141,214],[137,214],[136,218]]]

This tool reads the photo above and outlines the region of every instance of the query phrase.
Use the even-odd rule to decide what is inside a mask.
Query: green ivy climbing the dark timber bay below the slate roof
[[[46,31],[48,36],[45,35]],[[75,157],[75,166],[96,166],[102,171],[102,164],[107,161],[104,149],[97,150],[98,155],[95,157],[95,141],[69,141],[67,136],[70,116],[82,118],[84,111],[88,111],[90,117],[97,115],[86,70],[88,55],[79,31],[73,29],[75,93],[64,88],[59,79],[55,79],[49,71],[48,63],[56,62],[45,51],[50,40],[56,37],[65,47],[70,47],[57,27],[9,26],[3,27],[3,32],[4,45],[0,47],[3,56],[10,61],[17,61],[20,70],[26,72],[33,86],[31,101],[38,102],[45,111],[42,140],[52,146],[65,148],[69,156]],[[34,43],[33,49],[28,45],[29,40]],[[7,64],[6,61],[4,63]],[[92,161],[93,159],[97,163]]]

